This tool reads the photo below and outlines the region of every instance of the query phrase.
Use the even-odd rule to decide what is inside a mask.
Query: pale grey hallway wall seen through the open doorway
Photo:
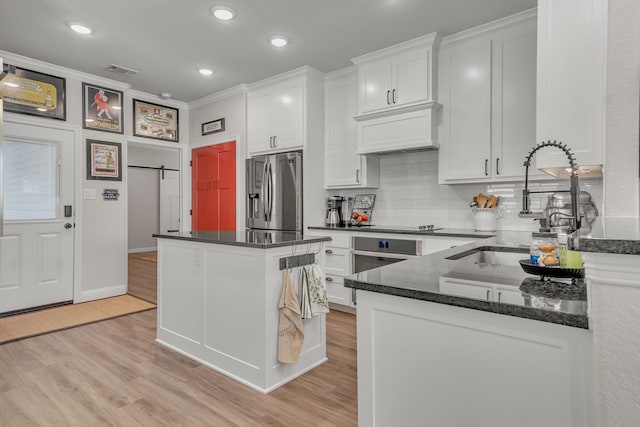
[[[129,143],[128,165],[180,169],[180,153],[169,148]],[[160,227],[160,170],[127,169],[129,252],[154,250],[151,237]]]

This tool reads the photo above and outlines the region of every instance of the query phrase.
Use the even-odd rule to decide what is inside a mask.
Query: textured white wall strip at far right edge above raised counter
[[[607,216],[640,214],[640,2],[609,0],[607,66]]]

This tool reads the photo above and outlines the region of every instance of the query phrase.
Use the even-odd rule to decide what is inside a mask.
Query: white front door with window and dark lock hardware
[[[0,313],[73,299],[74,139],[5,122]]]

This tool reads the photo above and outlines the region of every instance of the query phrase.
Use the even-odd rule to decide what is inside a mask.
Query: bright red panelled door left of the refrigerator
[[[192,230],[236,229],[236,142],[191,152]]]

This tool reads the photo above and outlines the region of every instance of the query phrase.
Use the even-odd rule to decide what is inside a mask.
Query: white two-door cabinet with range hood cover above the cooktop
[[[437,147],[436,33],[353,58],[358,153]]]

